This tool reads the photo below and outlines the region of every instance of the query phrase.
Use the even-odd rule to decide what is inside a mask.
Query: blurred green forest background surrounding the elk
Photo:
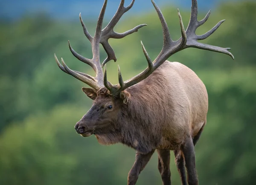
[[[201,1],[198,0],[199,5]],[[117,7],[119,1],[113,2]],[[98,3],[99,9],[102,3],[103,0]],[[191,5],[190,0],[186,3]],[[160,8],[173,39],[179,38],[177,6]],[[83,9],[82,16],[87,7]],[[190,10],[182,8],[180,12],[186,26]],[[199,19],[207,12],[208,9],[199,9]],[[82,138],[74,130],[92,101],[81,91],[85,84],[58,69],[54,53],[63,57],[71,69],[94,75],[90,66],[73,57],[67,45],[70,40],[81,55],[92,56],[78,15],[79,12],[76,20],[61,20],[40,12],[14,20],[0,19],[1,185],[127,183],[135,151],[121,144],[99,145],[95,137]],[[148,26],[124,39],[110,40],[118,58],[116,63],[108,63],[108,78],[112,83],[118,81],[117,64],[125,80],[147,66],[140,40],[152,59],[163,46],[161,25],[153,6],[148,12],[128,12],[124,17],[116,26],[117,32],[142,23]],[[197,33],[207,32],[222,19],[226,22],[203,42],[231,47],[234,61],[227,55],[199,49],[186,49],[169,61],[190,67],[208,90],[207,126],[195,147],[200,184],[253,185],[256,177],[256,2],[218,3]],[[83,20],[93,34],[96,17],[85,16]],[[105,23],[108,21],[109,17]],[[105,57],[101,49],[102,61]],[[173,154],[171,171],[173,184],[179,185]],[[161,184],[156,153],[137,184]]]

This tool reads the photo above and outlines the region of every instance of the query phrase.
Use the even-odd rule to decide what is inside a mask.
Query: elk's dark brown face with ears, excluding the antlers
[[[90,110],[76,123],[76,132],[88,137],[92,134],[106,134],[110,130],[117,129],[117,116],[123,104],[127,103],[129,94],[121,92],[119,97],[113,97],[105,89],[98,92],[90,88],[82,88],[82,90],[94,101]]]

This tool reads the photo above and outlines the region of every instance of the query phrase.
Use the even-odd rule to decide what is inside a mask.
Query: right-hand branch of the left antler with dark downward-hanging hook
[[[120,20],[122,15],[125,14],[125,12],[127,12],[129,9],[132,8],[132,6],[134,5],[134,1],[135,0],[132,0],[131,4],[129,6],[124,7],[125,0],[121,0],[115,15],[113,16],[111,21],[108,23],[108,25],[102,30],[102,36],[101,36],[100,43],[102,44],[103,48],[105,49],[105,51],[108,55],[108,57],[103,61],[102,67],[105,64],[107,64],[108,61],[113,60],[114,62],[116,62],[116,60],[117,60],[113,48],[108,43],[108,39],[110,39],[110,38],[115,38],[115,39],[124,38],[127,35],[130,35],[134,32],[137,32],[138,29],[142,28],[143,26],[147,26],[146,24],[141,24],[139,26],[134,27],[133,29],[128,30],[127,32],[124,32],[124,33],[117,33],[117,32],[113,31],[113,28],[116,26],[116,24],[118,23],[118,21]]]

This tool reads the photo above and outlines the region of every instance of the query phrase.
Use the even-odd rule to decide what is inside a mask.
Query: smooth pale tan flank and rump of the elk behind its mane
[[[184,136],[193,138],[206,123],[207,90],[195,72],[178,62],[166,61],[156,72],[161,72],[166,80],[163,80],[163,89],[156,87],[152,90],[155,89],[158,97],[163,97],[168,118],[162,123],[160,132],[163,136],[157,149],[177,150]],[[157,75],[153,73],[151,78],[157,78]]]

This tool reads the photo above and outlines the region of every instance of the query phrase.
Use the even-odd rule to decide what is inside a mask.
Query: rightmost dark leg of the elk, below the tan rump
[[[183,156],[185,159],[187,181],[189,185],[198,185],[198,177],[195,169],[195,150],[191,137],[186,139],[185,144],[182,147]]]

